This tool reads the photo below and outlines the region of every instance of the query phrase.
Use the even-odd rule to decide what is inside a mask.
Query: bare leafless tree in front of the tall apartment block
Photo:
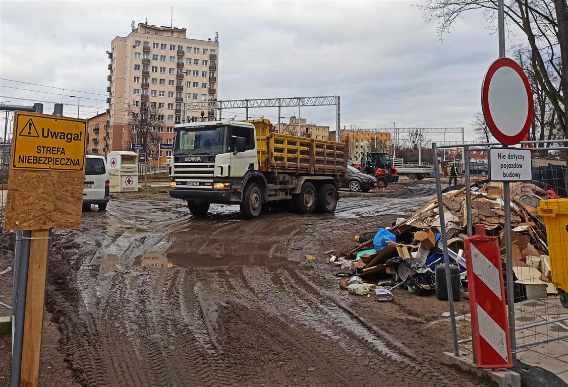
[[[124,150],[131,150],[132,144],[142,144],[145,153],[160,152],[160,134],[158,128],[164,126],[164,115],[161,109],[147,106],[131,106],[128,104],[128,142]]]

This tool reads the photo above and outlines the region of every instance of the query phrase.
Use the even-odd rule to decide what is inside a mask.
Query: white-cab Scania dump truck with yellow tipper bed
[[[266,119],[175,125],[169,195],[196,217],[211,203],[239,204],[249,219],[281,201],[298,213],[335,212],[347,146],[272,128]]]

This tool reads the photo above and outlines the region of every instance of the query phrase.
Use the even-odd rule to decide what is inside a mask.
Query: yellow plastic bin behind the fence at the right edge
[[[568,308],[568,199],[541,200],[538,214],[546,225],[551,279]]]

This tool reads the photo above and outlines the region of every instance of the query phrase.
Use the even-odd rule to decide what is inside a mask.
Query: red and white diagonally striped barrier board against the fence
[[[511,339],[497,238],[487,237],[484,225],[465,238],[467,284],[475,363],[479,368],[510,368]]]

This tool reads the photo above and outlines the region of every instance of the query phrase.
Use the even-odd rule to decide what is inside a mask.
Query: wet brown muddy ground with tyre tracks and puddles
[[[83,213],[80,230],[54,233],[40,385],[482,385],[441,364],[447,302],[404,289],[390,303],[350,296],[325,263],[324,251],[390,225],[434,190],[342,192],[333,216],[253,221],[238,207],[212,205],[198,220],[166,194],[117,195],[106,212]],[[2,254],[2,268],[10,259]],[[2,336],[0,376],[9,356]]]

